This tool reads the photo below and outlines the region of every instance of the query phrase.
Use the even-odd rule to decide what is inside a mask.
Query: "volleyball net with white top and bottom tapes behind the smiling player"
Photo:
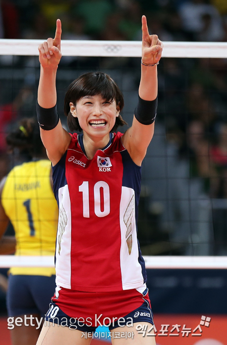
[[[6,104],[17,105],[16,115],[1,126],[3,137],[16,120],[35,116],[40,42],[0,39],[2,118]],[[130,125],[137,103],[141,42],[62,40],[62,53],[56,88],[63,125],[67,127],[67,86],[91,70],[104,71],[117,82],[125,97],[123,117]],[[226,269],[227,43],[164,42],[158,79],[155,134],[142,166],[138,218],[146,267]],[[0,149],[7,162],[1,165],[3,177],[13,163],[5,156],[4,144]],[[48,256],[0,255],[0,267],[53,265]]]

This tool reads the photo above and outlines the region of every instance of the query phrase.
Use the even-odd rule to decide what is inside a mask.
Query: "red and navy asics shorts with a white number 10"
[[[82,292],[57,288],[45,323],[95,332],[98,326],[109,330],[129,326],[136,322],[153,325],[153,314],[148,289],[140,293],[136,289],[114,292]]]

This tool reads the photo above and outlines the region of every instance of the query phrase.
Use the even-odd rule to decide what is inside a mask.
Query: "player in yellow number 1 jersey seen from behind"
[[[16,255],[53,256],[58,205],[52,192],[51,164],[46,156],[43,158],[45,149],[36,120],[23,119],[7,136],[7,143],[14,153],[19,150],[20,158],[23,155],[30,161],[15,166],[0,184],[0,238],[10,220],[15,229]],[[36,344],[54,290],[54,268],[10,269],[8,316],[22,320],[11,329],[13,345]]]

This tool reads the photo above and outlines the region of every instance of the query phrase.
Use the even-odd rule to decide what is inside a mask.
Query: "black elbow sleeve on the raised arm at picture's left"
[[[42,130],[53,130],[53,128],[55,128],[59,123],[59,114],[56,109],[56,105],[52,108],[42,108],[37,102],[36,111],[38,123]]]

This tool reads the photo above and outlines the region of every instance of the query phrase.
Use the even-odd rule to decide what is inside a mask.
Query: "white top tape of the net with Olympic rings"
[[[38,55],[40,39],[0,39],[0,55]],[[62,40],[64,56],[141,57],[140,41]],[[225,42],[164,42],[164,58],[227,58]]]

